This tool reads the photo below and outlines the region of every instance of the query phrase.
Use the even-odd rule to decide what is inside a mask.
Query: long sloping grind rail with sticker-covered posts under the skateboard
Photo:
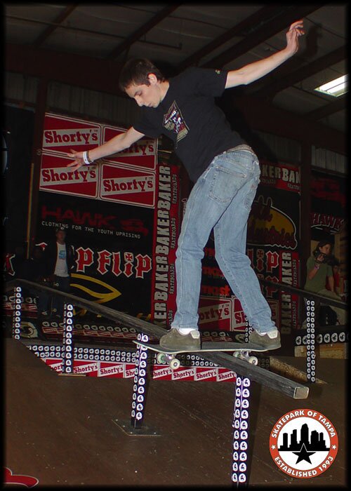
[[[62,297],[65,300],[65,314],[63,320],[64,335],[62,349],[62,373],[73,373],[74,365],[74,324],[73,309],[81,307],[100,314],[118,325],[135,328],[138,331],[138,341],[149,342],[150,336],[159,339],[167,330],[142,319],[135,318],[123,312],[115,311],[110,307],[102,307],[100,304],[84,300],[76,295],[55,290],[32,281],[15,279],[5,285],[5,291],[14,292],[15,307],[13,311],[13,337],[20,339],[21,298],[22,287],[36,292],[45,291],[48,294]],[[246,328],[246,335],[249,325]],[[247,336],[246,336],[247,337]],[[247,361],[235,358],[225,353],[204,353],[201,358],[211,361],[216,365],[232,370],[236,374],[234,384],[234,409],[233,409],[233,446],[232,446],[232,484],[235,487],[246,487],[249,484],[249,462],[251,462],[252,450],[249,448],[249,418],[250,418],[250,386],[251,382],[268,386],[274,391],[285,394],[294,399],[305,399],[309,388],[290,379],[269,372],[264,368],[251,365]],[[122,429],[129,435],[147,434],[143,431],[143,419],[145,415],[146,385],[148,368],[147,349],[138,346],[135,358],[135,376],[133,384],[132,408],[130,426],[124,425]],[[152,435],[152,433],[150,433]]]

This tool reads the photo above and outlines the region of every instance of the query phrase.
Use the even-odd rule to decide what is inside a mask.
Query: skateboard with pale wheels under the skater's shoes
[[[251,356],[251,351],[268,351],[267,349],[251,343],[235,343],[235,342],[210,342],[205,341],[202,343],[201,349],[179,349],[172,350],[162,348],[159,344],[144,343],[141,341],[133,341],[138,346],[142,346],[157,353],[157,363],[167,363],[173,370],[180,367],[180,361],[176,358],[176,355],[182,353],[201,353],[211,351],[233,351],[233,356],[246,360],[252,365],[258,364],[258,358]]]

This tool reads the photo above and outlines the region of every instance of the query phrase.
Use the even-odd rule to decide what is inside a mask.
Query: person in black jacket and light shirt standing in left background
[[[49,242],[44,250],[46,279],[61,292],[69,292],[70,276],[75,267],[74,249],[66,243],[66,231],[63,227],[56,229],[55,235],[56,240]],[[63,315],[64,303],[60,297],[53,297],[52,313],[58,318]],[[41,315],[48,316],[47,309]]]

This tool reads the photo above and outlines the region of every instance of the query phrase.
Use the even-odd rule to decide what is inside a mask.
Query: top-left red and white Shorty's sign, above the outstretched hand
[[[100,145],[101,125],[74,119],[59,114],[45,114],[43,133],[43,152],[67,154],[73,149],[77,152]]]

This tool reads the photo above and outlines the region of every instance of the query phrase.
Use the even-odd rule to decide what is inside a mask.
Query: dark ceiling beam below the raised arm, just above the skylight
[[[274,81],[269,81],[268,85],[252,92],[254,95],[258,97],[274,97],[275,94],[284,90],[285,88],[293,86],[295,83],[300,82],[301,80],[307,79],[309,76],[317,74],[318,72],[322,72],[322,70],[335,65],[336,63],[345,60],[346,58],[346,49],[345,46],[341,46],[341,48],[328,53],[321,58],[318,58],[314,62],[303,65],[299,69],[291,72],[282,78],[276,79]],[[276,74],[277,72],[274,72]]]

